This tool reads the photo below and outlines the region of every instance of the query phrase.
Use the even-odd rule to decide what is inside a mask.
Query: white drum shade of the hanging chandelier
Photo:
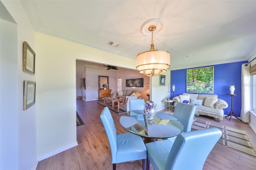
[[[136,69],[140,73],[154,75],[165,72],[170,67],[170,53],[162,50],[152,50],[140,53],[136,57]]]

